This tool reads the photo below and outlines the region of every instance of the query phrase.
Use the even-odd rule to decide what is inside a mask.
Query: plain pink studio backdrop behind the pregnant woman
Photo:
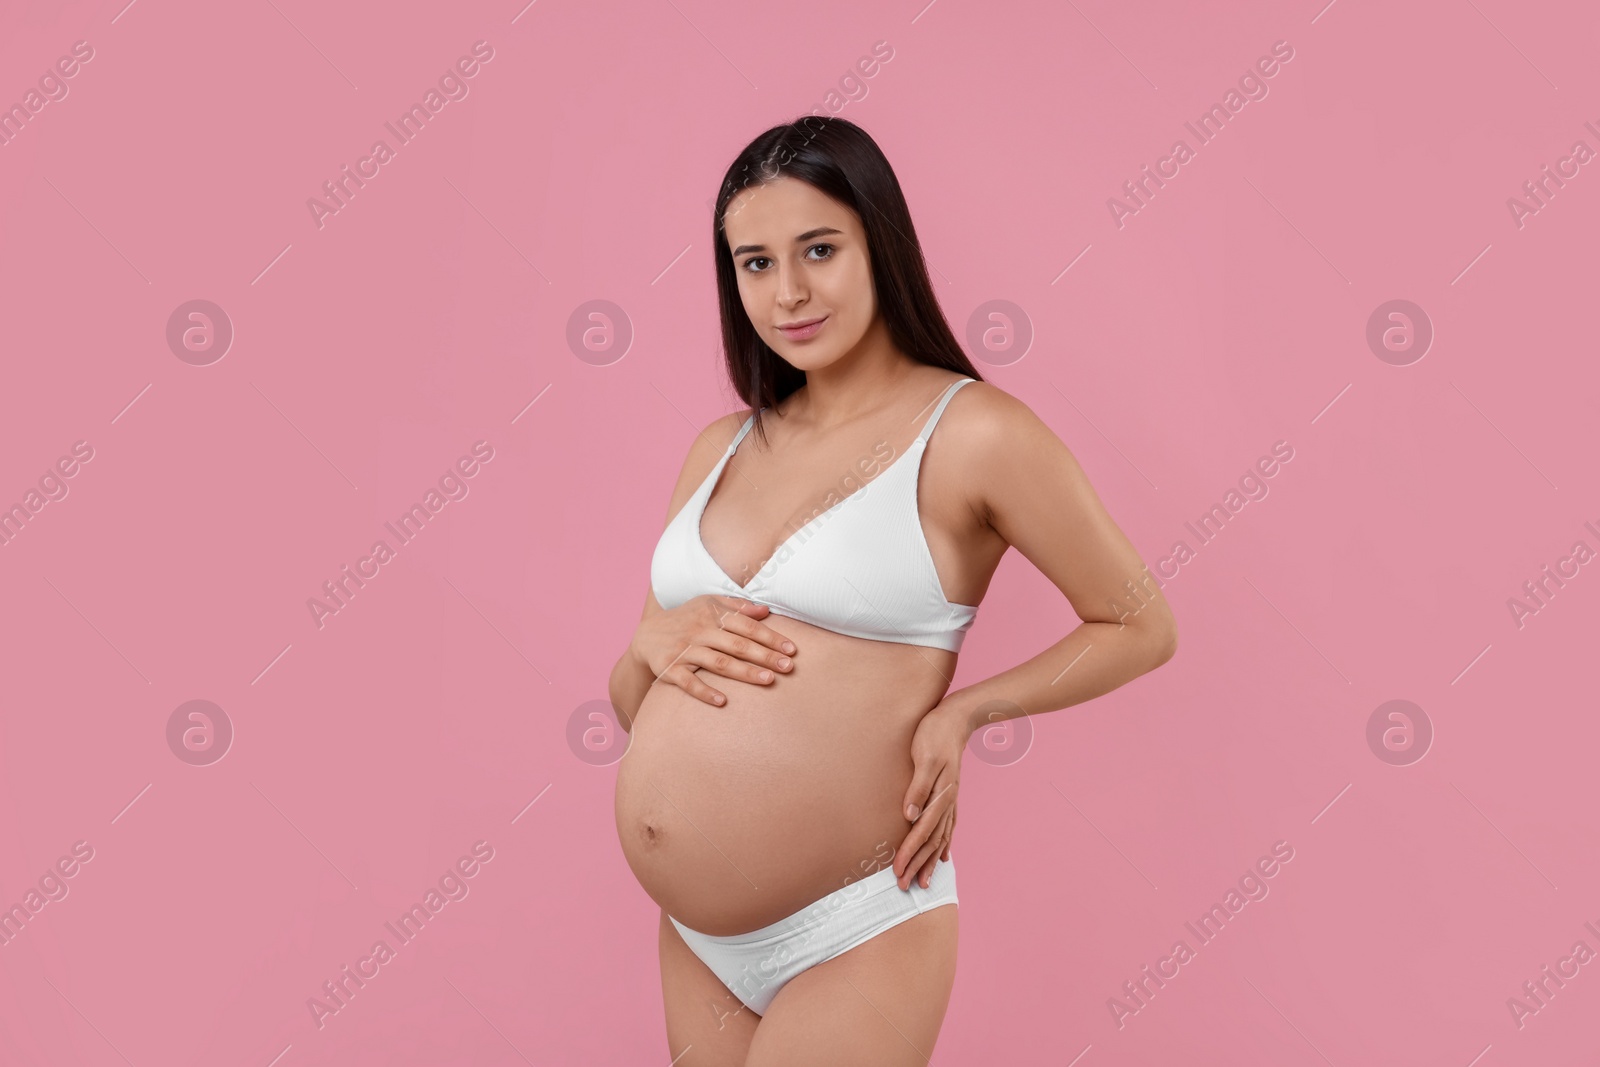
[[[0,904],[94,853],[0,947],[0,1062],[669,1062],[616,768],[568,726],[694,427],[738,406],[707,200],[811,110],[882,144],[958,336],[1021,310],[1021,358],[970,347],[986,378],[1152,566],[1195,549],[1171,664],[965,761],[934,1062],[1600,1051],[1600,963],[1507,1008],[1600,952],[1600,566],[1507,608],[1600,549],[1600,165],[1507,208],[1600,149],[1592,5],[520,6],[3,16],[0,102],[94,56],[0,147],[0,506],[93,448],[0,547]],[[477,40],[470,93],[318,227],[307,198]],[[1280,40],[1269,94],[1198,146],[1184,122]],[[1178,138],[1195,158],[1118,227],[1107,200]],[[206,366],[166,341],[192,299],[235,331]],[[1435,331],[1405,366],[1366,342],[1394,299]],[[626,350],[573,347],[590,301]],[[307,600],[478,440],[469,494],[318,627]],[[1184,523],[1278,440],[1269,496],[1197,547]],[[1010,553],[957,685],[1072,625]],[[166,737],[194,699],[235,731],[206,766]],[[1368,747],[1390,699],[1426,758]],[[307,998],[474,841],[470,894],[318,1029]],[[1118,1029],[1107,1000],[1275,841],[1270,894]]]

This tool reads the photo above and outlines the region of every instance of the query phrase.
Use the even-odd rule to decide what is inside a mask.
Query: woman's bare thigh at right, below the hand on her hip
[[[790,979],[747,1067],[926,1067],[955,985],[957,909],[907,918]]]

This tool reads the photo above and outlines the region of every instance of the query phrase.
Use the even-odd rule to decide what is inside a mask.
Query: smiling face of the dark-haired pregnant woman
[[[779,178],[730,200],[723,230],[744,314],[773,352],[810,371],[866,336],[877,294],[854,211],[803,181]],[[792,323],[800,328],[784,330]]]

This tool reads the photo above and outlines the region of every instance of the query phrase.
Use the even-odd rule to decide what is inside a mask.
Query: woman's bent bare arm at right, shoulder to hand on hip
[[[974,510],[1061,590],[1080,625],[1032,659],[946,694],[922,718],[906,792],[912,827],[894,853],[902,889],[926,883],[950,856],[962,752],[973,733],[1110,693],[1178,651],[1166,598],[1061,438],[1000,389],[965,392],[981,403],[962,413],[950,466],[976,486]]]

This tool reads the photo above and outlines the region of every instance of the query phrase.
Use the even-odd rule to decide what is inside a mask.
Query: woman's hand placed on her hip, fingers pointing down
[[[955,833],[955,787],[962,777],[962,752],[971,736],[966,715],[939,704],[922,717],[910,739],[912,776],[902,816],[910,832],[894,851],[894,877],[901,889],[918,881],[928,888],[933,869],[950,859]]]

